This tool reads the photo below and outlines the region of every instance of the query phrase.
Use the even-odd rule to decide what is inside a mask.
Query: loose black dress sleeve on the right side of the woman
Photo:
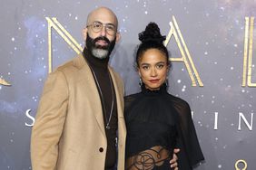
[[[179,170],[189,170],[204,160],[204,157],[192,122],[189,104],[182,100],[175,108],[179,114],[179,137],[177,140],[177,147],[181,149],[178,154]]]

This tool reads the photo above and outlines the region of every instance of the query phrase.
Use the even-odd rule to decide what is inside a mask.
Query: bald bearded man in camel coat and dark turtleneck
[[[84,52],[49,74],[32,130],[34,170],[112,170],[116,160],[124,169],[123,81],[108,65],[117,26],[110,9],[95,9]]]

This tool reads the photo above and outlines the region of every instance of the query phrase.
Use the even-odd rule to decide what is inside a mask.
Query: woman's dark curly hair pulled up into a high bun
[[[171,62],[169,61],[169,52],[163,45],[163,41],[165,39],[166,37],[162,36],[158,25],[152,22],[149,23],[146,26],[145,31],[139,33],[139,40],[141,43],[137,47],[135,67],[139,68],[139,61],[142,59],[143,53],[149,49],[157,49],[162,52],[166,57],[168,66],[170,67]]]

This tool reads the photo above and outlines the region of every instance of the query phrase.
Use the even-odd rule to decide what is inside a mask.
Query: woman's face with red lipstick
[[[139,60],[138,72],[149,90],[159,90],[166,80],[169,66],[165,55],[157,49],[149,49]]]

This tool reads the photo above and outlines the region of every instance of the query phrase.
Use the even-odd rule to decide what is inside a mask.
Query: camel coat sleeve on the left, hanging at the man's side
[[[33,170],[54,170],[68,105],[68,84],[62,71],[49,74],[31,136]]]

